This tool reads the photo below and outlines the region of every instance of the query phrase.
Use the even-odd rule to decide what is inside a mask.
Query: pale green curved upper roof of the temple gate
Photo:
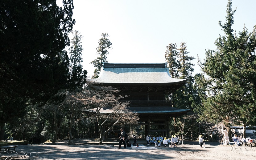
[[[172,78],[166,63],[103,63],[98,78],[91,82],[109,84],[184,84],[187,79]]]

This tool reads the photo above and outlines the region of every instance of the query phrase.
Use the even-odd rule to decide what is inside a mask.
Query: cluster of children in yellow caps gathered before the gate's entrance
[[[165,147],[166,146],[169,146],[169,147],[177,147],[177,143],[178,143],[178,137],[176,135],[171,135],[171,138],[166,138],[163,136],[153,136],[153,139],[152,137],[149,135],[147,136],[149,139],[149,141],[147,141],[147,145],[149,144],[155,144],[155,146],[161,146],[161,144],[163,144]]]

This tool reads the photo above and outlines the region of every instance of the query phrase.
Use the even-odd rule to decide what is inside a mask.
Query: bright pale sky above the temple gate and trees
[[[60,5],[62,1],[57,2]],[[108,33],[113,49],[110,63],[162,63],[169,43],[187,43],[189,56],[205,58],[205,49],[216,49],[214,42],[224,35],[218,21],[225,23],[227,0],[74,0],[73,30],[82,39],[83,68],[88,76],[94,67],[101,33]],[[233,0],[237,7],[233,29],[251,32],[256,25],[256,1]],[[70,38],[72,38],[70,36]],[[196,64],[197,59],[193,61]],[[194,74],[200,73],[197,64]]]

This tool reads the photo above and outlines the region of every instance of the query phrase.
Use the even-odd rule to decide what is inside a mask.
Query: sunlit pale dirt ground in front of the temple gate
[[[140,145],[141,147],[127,147],[118,149],[118,145],[85,144],[86,140],[73,140],[73,145],[68,146],[66,141],[58,141],[57,145],[21,145],[16,148],[17,152],[31,152],[31,159],[36,160],[116,160],[116,159],[186,159],[186,160],[215,160],[215,159],[256,159],[256,152],[244,150],[231,151],[230,146],[206,145],[201,148],[196,143],[179,145],[177,148],[155,147],[153,145]],[[256,147],[253,147],[255,150]],[[253,154],[253,155],[251,155]]]

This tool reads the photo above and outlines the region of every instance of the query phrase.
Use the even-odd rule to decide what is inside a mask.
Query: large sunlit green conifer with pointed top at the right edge
[[[200,118],[209,122],[229,122],[255,125],[255,78],[256,78],[256,26],[248,33],[233,31],[232,2],[228,1],[226,23],[219,21],[224,36],[219,36],[217,50],[206,50],[205,62],[200,62],[203,74],[197,83],[205,88],[208,98],[202,97],[203,107]]]

